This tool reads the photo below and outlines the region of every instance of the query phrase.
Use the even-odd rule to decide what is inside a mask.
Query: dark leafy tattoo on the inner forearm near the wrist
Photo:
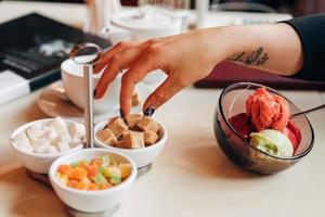
[[[245,65],[255,66],[263,65],[268,60],[269,54],[264,52],[262,47],[258,48],[256,51],[242,52],[226,59],[226,61],[239,62]]]

